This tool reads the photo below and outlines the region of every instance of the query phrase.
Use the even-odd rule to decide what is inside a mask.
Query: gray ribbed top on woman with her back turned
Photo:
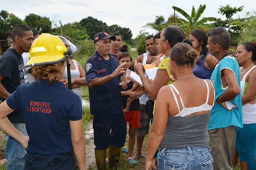
[[[207,131],[211,112],[195,116],[169,116],[161,147],[209,147]]]

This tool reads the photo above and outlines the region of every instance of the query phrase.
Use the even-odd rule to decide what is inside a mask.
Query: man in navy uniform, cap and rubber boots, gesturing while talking
[[[110,54],[113,39],[116,37],[106,32],[97,33],[94,36],[97,51],[85,64],[90,112],[93,115],[95,159],[99,170],[106,169],[108,147],[109,165],[111,168],[116,165],[126,137],[121,88],[127,87],[127,84],[120,82],[126,63],[119,65],[116,55]]]

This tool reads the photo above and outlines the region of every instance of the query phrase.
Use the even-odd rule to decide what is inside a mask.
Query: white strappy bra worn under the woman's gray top
[[[174,96],[174,99],[175,99],[175,102],[176,102],[176,105],[177,105],[177,108],[178,108],[178,111],[179,113],[176,114],[175,116],[181,116],[181,117],[184,117],[188,114],[192,114],[192,113],[196,113],[196,112],[200,112],[200,111],[211,111],[212,108],[213,108],[213,105],[215,102],[213,102],[212,105],[209,105],[208,104],[208,99],[209,99],[209,86],[208,86],[208,83],[206,82],[206,80],[204,80],[204,82],[206,83],[206,86],[207,86],[207,98],[206,98],[206,102],[200,106],[197,106],[197,107],[185,107],[184,103],[183,103],[183,100],[180,96],[180,93],[178,92],[178,90],[176,89],[176,87],[173,85],[173,84],[169,84],[168,86],[170,87],[171,91],[172,91],[172,95]],[[212,83],[212,82],[211,82]],[[213,84],[212,84],[213,86]],[[178,100],[177,100],[177,97],[174,93],[174,90],[176,91],[176,93],[178,94],[178,96],[180,96],[180,102],[181,102],[181,105],[182,105],[182,110],[180,110],[180,105],[178,103]],[[214,98],[215,98],[215,90],[214,90]]]

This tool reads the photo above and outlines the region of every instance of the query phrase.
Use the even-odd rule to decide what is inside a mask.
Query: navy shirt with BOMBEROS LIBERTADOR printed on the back
[[[82,103],[61,81],[51,85],[39,79],[21,84],[6,102],[24,116],[29,135],[27,152],[55,155],[73,150],[69,120],[82,119]]]

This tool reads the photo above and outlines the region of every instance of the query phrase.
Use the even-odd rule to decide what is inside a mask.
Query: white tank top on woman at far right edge
[[[247,75],[251,72],[253,68],[256,66],[253,66],[243,77],[243,79],[240,82],[241,86],[241,96],[244,95],[244,85],[245,85],[245,78]],[[240,70],[242,67],[240,68]],[[250,104],[247,103],[245,105],[242,105],[242,116],[243,116],[243,124],[251,124],[251,123],[256,123],[256,103],[255,104]]]

